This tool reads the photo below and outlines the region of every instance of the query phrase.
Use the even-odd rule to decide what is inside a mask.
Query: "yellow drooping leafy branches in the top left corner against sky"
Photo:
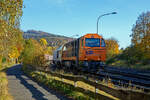
[[[22,8],[23,0],[0,0],[0,20],[19,28]]]

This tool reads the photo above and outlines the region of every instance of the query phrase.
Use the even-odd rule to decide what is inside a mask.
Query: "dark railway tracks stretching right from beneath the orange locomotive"
[[[136,87],[145,92],[150,92],[150,74],[133,69],[105,67],[97,73],[80,71],[78,75],[93,78],[94,80],[109,80],[116,86]]]

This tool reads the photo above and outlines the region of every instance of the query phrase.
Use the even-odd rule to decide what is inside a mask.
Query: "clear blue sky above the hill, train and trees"
[[[126,48],[133,24],[142,12],[150,11],[149,4],[150,0],[24,0],[21,29],[80,37],[96,33],[98,16],[117,12],[100,18],[98,34]]]

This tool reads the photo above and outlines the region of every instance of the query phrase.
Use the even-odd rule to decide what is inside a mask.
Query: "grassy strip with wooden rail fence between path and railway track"
[[[150,94],[133,88],[116,88],[113,84],[103,84],[83,77],[63,75],[50,71],[33,70],[24,67],[23,71],[37,82],[45,84],[64,95],[77,100],[149,100]]]

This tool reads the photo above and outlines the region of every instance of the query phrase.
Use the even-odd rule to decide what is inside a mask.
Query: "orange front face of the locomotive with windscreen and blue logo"
[[[101,42],[103,41],[103,46]],[[79,48],[80,61],[98,61],[105,62],[106,49],[105,42],[98,34],[87,34],[81,38]]]

